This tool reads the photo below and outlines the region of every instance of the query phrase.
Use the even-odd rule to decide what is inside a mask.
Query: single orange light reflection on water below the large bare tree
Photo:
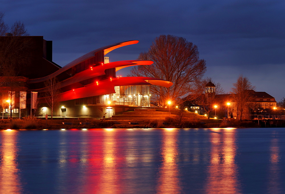
[[[162,166],[158,173],[157,193],[180,193],[180,178],[177,166],[177,129],[166,129],[162,133]]]

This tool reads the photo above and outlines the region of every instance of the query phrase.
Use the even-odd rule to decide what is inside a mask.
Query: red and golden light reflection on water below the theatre
[[[88,171],[95,173],[89,173],[92,176],[87,177],[86,193],[123,193],[124,185],[117,181],[122,179],[119,168],[123,165],[120,162],[121,157],[117,155],[116,131],[105,130],[102,137],[100,144],[96,142],[94,145],[97,146],[91,146],[95,148],[93,151],[89,149],[89,154],[93,157],[89,158],[92,165]]]

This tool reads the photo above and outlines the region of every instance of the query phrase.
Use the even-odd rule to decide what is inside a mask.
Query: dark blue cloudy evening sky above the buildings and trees
[[[230,92],[239,74],[257,91],[285,97],[285,1],[0,0],[9,25],[53,41],[53,61],[64,66],[101,46],[139,40],[110,52],[110,61],[137,59],[160,34],[182,36],[207,62],[205,77]],[[129,69],[117,75],[126,76]]]

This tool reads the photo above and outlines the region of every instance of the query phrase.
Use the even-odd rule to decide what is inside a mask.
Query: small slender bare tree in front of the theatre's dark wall
[[[51,78],[45,82],[45,86],[47,87],[48,91],[46,92],[46,102],[51,108],[51,119],[53,115],[54,106],[58,103],[59,100],[59,83],[56,78]]]

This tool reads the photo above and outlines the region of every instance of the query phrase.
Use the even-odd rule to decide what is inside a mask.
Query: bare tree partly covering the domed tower
[[[213,84],[213,89],[211,89],[210,91],[206,87],[209,83]],[[198,94],[198,97],[196,98],[196,103],[204,108],[208,115],[208,119],[210,119],[210,112],[213,110],[216,95],[224,93],[221,84],[215,82],[212,83],[211,78],[207,77],[201,81],[195,82],[195,91]]]

